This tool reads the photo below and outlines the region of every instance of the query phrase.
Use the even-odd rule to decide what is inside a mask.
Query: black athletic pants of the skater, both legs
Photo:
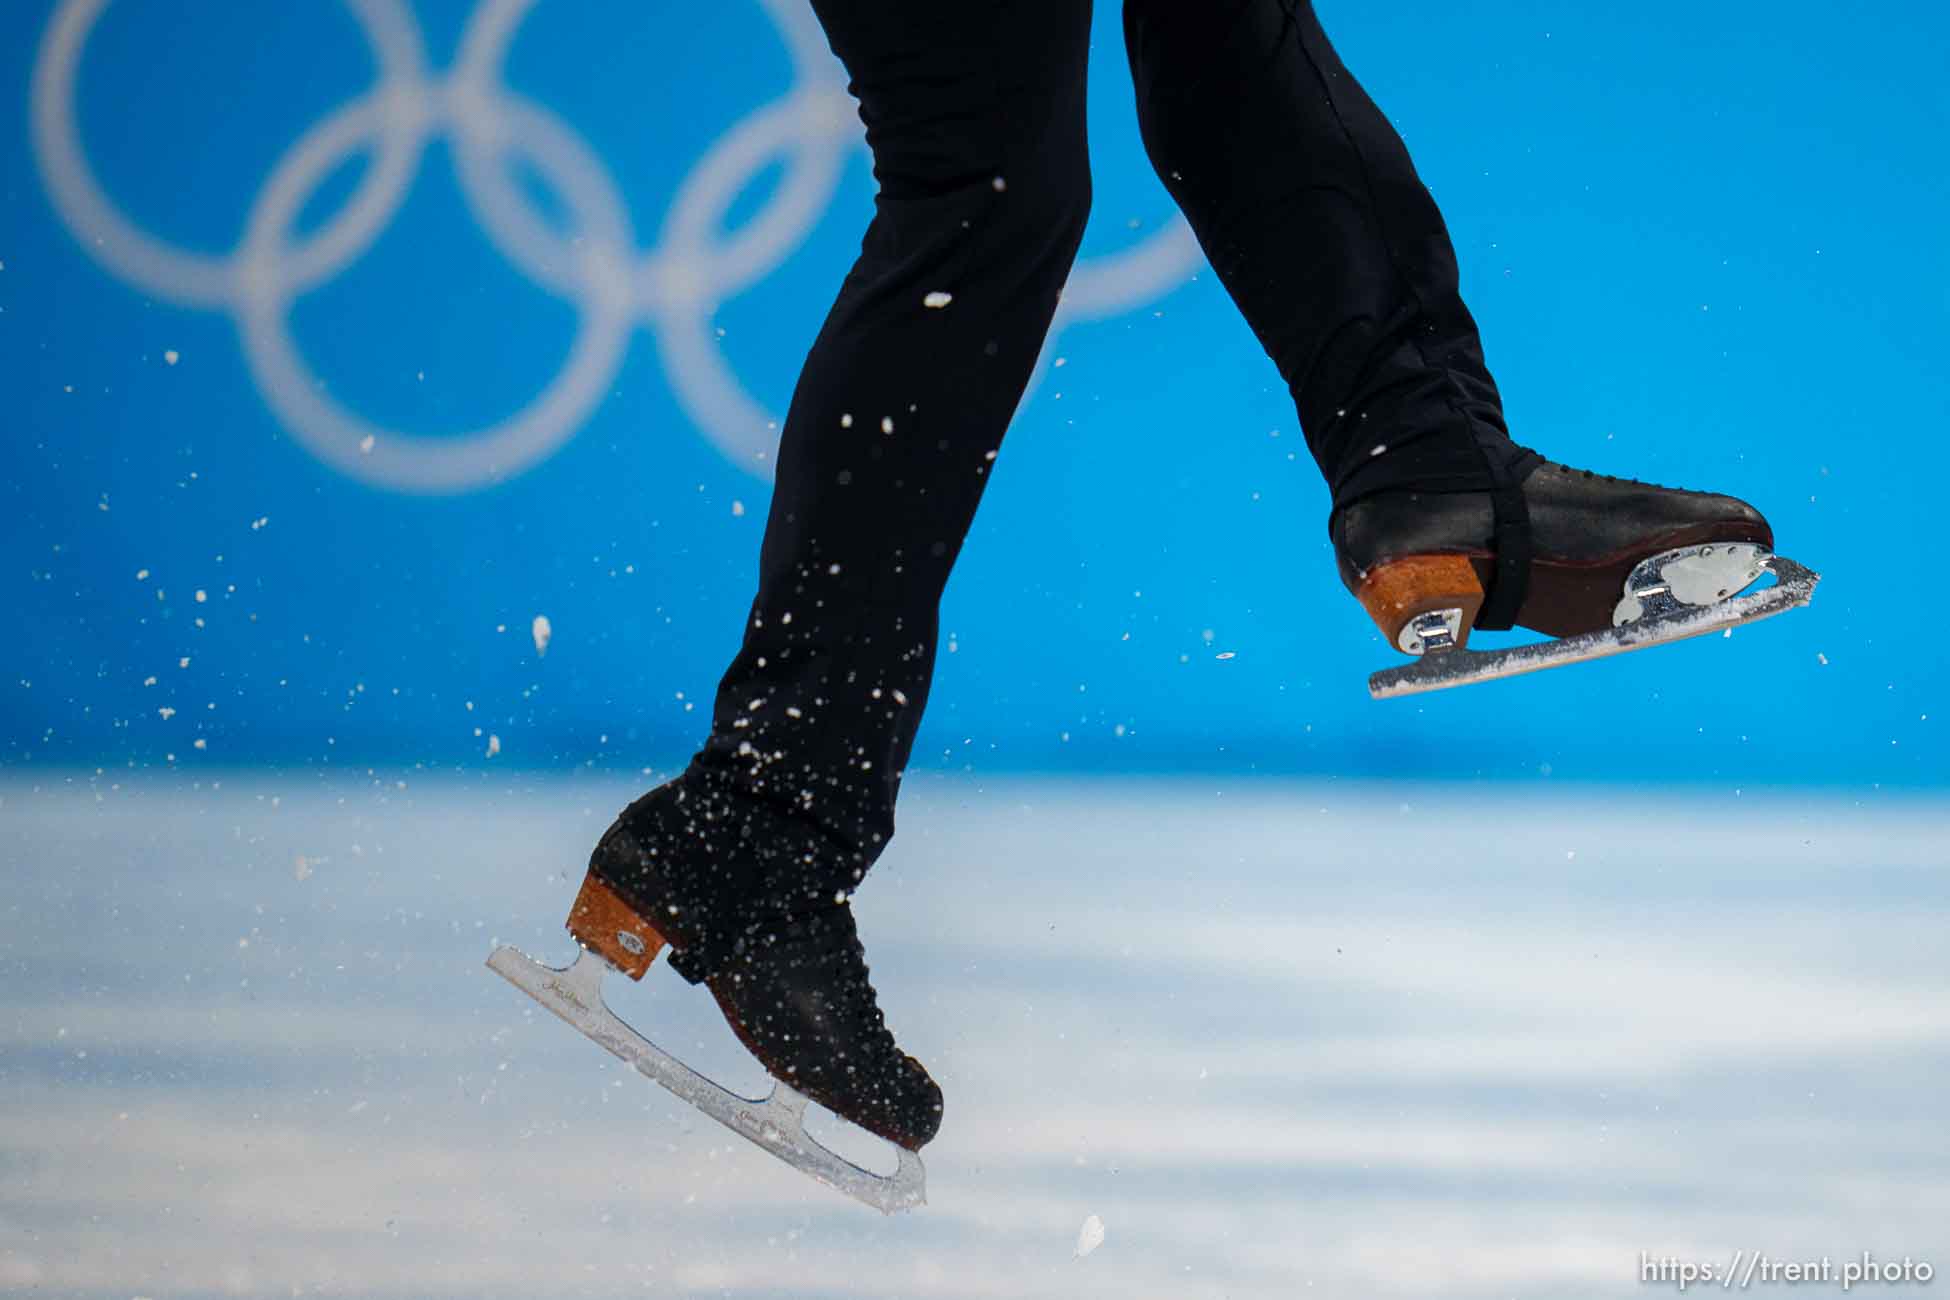
[[[792,398],[743,649],[665,791],[661,852],[733,897],[831,899],[893,834],[942,587],[1090,210],[1090,0],[813,8],[879,195]],[[1449,236],[1306,0],[1127,0],[1123,25],[1150,162],[1334,501],[1488,489],[1507,437]]]

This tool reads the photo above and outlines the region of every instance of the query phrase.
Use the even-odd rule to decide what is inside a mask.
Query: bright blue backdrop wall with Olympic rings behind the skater
[[[1396,657],[1143,162],[1104,4],[1096,216],[916,760],[1940,785],[1944,8],[1320,10],[1443,203],[1517,437],[1757,501],[1814,608],[1371,702]],[[6,760],[688,752],[766,421],[870,212],[801,4],[25,0],[6,29]]]

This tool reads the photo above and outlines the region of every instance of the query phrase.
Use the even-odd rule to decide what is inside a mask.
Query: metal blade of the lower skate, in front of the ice
[[[764,1097],[741,1097],[704,1078],[618,1019],[603,1002],[603,975],[608,971],[608,963],[589,949],[581,949],[573,965],[556,969],[544,967],[517,947],[497,947],[488,957],[488,967],[575,1025],[612,1056],[634,1066],[644,1078],[663,1084],[682,1101],[704,1111],[731,1132],[762,1146],[800,1173],[807,1173],[862,1204],[872,1204],[883,1214],[926,1204],[928,1173],[915,1152],[895,1146],[901,1164],[889,1175],[862,1169],[805,1134],[805,1097],[796,1090],[774,1082],[772,1091]]]

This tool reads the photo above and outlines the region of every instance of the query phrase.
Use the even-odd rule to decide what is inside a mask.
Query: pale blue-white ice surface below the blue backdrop
[[[854,906],[948,1111],[887,1220],[480,965],[569,955],[638,793],[499,762],[0,785],[0,1292],[1644,1300],[1640,1251],[1950,1253],[1946,805],[911,774]],[[764,1090],[702,990],[612,982]]]

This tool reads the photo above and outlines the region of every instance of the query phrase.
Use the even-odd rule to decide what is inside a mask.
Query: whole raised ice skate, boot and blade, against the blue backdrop
[[[1330,534],[1347,591],[1418,657],[1369,676],[1377,700],[1720,631],[1808,604],[1819,579],[1774,555],[1745,501],[1552,462],[1505,493],[1379,493]],[[1554,639],[1468,649],[1470,630],[1511,626]]]

